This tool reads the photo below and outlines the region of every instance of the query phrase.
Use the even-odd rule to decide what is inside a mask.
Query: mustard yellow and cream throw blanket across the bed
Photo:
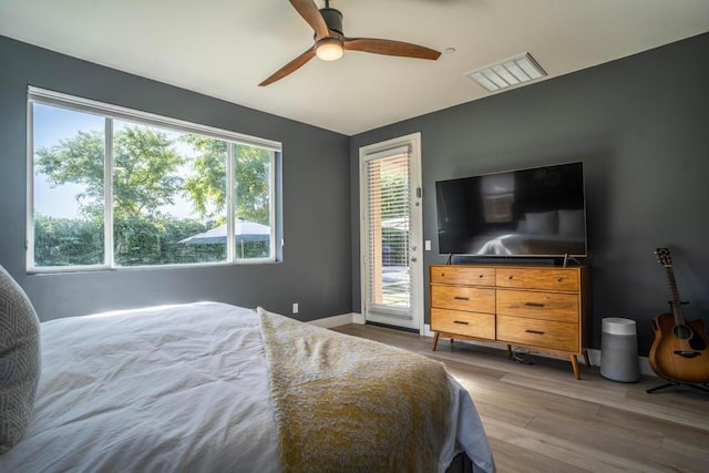
[[[285,472],[438,471],[441,363],[258,311]]]

